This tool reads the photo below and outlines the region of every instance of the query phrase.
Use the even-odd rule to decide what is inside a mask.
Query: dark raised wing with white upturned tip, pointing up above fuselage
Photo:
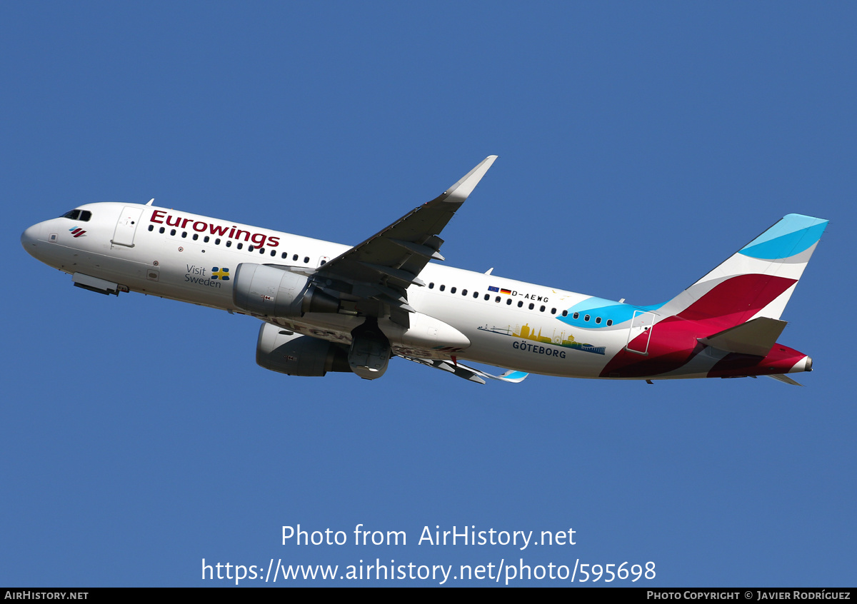
[[[405,214],[363,243],[354,246],[313,273],[328,294],[354,302],[360,314],[409,325],[407,289],[423,286],[417,275],[428,260],[443,260],[438,251],[440,231],[494,164],[490,155],[443,194]]]

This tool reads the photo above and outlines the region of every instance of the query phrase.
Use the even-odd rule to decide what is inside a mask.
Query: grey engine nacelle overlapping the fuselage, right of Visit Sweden
[[[242,262],[235,272],[232,302],[266,317],[300,317],[304,313],[335,313],[339,300],[309,279],[276,266]]]

